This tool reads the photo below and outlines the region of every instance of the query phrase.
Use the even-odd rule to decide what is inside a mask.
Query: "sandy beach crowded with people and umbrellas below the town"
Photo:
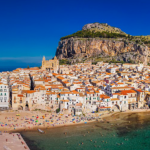
[[[17,132],[20,130],[36,130],[86,124],[96,120],[104,120],[116,113],[139,113],[149,111],[149,109],[137,109],[126,112],[88,113],[82,117],[46,111],[3,111],[0,113],[0,131]]]

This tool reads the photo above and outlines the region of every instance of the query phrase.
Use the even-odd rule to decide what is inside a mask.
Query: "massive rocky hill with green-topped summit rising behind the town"
[[[62,37],[56,56],[69,63],[92,61],[149,63],[150,36],[131,36],[104,23],[84,25]]]

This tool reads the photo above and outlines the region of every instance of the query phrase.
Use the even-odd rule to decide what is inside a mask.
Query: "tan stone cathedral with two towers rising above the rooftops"
[[[44,56],[42,60],[42,69],[47,71],[57,71],[59,69],[59,60],[56,56],[51,60],[46,60]]]

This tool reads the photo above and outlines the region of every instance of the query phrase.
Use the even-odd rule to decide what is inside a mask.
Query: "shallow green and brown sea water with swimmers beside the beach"
[[[21,134],[31,150],[150,149],[150,113],[115,114],[105,122],[45,131],[46,134],[37,131]]]

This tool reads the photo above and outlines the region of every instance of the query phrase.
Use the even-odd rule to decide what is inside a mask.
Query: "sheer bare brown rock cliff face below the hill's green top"
[[[124,39],[69,38],[59,42],[56,56],[59,59],[114,57],[116,60],[147,64],[148,47]]]

